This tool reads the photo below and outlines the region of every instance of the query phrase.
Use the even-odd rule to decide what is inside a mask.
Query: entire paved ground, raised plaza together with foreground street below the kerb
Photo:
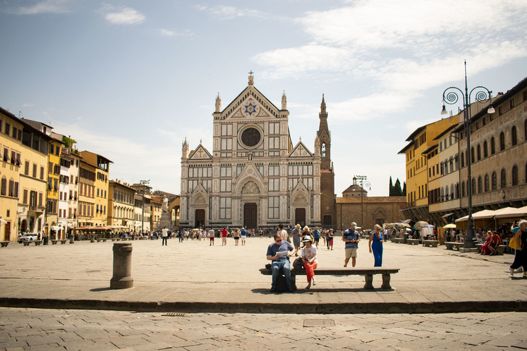
[[[343,265],[339,239],[320,245],[320,268]],[[512,254],[388,242],[393,289],[379,276],[373,291],[361,276],[319,276],[305,291],[299,276],[296,293],[276,294],[258,271],[271,242],[133,241],[134,288],[122,290],[109,289],[109,241],[11,243],[0,249],[0,350],[527,349],[527,279],[508,274]],[[373,266],[367,246],[357,267]]]

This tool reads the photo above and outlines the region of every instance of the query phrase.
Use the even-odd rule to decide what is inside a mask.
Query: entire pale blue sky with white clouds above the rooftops
[[[0,0],[0,106],[112,160],[111,179],[178,194],[183,141],[211,151],[215,97],[253,71],[312,152],[324,94],[338,196],[353,175],[387,196],[465,60],[469,90],[527,77],[526,29],[523,0]]]

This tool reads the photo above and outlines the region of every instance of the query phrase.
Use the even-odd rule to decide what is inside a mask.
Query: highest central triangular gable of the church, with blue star
[[[218,119],[277,119],[288,117],[288,110],[279,110],[254,86],[247,86],[222,112]]]

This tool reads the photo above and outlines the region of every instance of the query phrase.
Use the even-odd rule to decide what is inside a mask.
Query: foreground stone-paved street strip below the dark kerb
[[[284,315],[0,308],[0,350],[522,350],[527,313]]]

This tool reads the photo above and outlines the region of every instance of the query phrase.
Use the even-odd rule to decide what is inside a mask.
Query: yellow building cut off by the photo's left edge
[[[0,108],[0,241],[16,241],[23,124]]]

